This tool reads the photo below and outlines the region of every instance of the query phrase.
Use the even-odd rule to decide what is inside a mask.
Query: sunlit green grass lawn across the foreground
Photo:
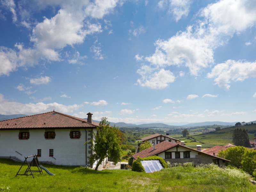
[[[94,171],[82,167],[65,167],[43,164],[54,176],[35,173],[32,176],[16,173],[21,163],[0,159],[0,188],[10,191],[182,191],[182,192],[233,192],[256,191],[250,177],[237,170],[210,167],[171,167],[159,172],[145,173],[131,170]]]

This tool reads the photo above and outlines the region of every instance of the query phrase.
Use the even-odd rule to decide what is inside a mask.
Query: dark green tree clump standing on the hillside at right
[[[235,129],[232,134],[232,142],[236,146],[250,147],[250,140],[248,133],[242,129]]]

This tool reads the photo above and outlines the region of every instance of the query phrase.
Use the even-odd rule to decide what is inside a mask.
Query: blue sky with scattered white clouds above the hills
[[[0,0],[0,114],[256,120],[256,0]]]

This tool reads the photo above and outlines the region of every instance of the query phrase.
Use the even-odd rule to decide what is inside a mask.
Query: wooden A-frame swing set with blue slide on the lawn
[[[26,171],[24,172],[24,174],[19,174],[22,166],[25,164],[25,162],[28,164],[28,168],[26,169]],[[38,170],[32,170],[31,167],[37,167]],[[25,157],[25,161],[23,162],[23,164],[21,165],[19,171],[17,172],[16,176],[17,175],[32,175],[33,178],[34,178],[34,175],[33,175],[33,172],[40,172],[40,174],[42,173],[43,174],[43,171],[42,169],[47,172],[49,175],[55,175],[51,172],[49,172],[45,167],[43,167],[42,165],[40,165],[39,161],[38,161],[38,158],[37,158],[37,155],[32,155],[32,156],[28,156],[28,157]],[[31,173],[31,174],[30,174]],[[15,177],[16,177],[15,176]]]

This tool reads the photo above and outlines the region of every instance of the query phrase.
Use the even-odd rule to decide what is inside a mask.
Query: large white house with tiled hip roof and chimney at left
[[[57,165],[90,165],[91,143],[99,123],[56,111],[0,121],[0,157],[38,155],[40,162]]]

